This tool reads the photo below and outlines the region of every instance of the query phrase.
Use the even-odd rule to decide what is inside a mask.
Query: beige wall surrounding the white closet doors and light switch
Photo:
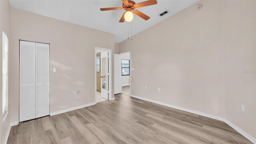
[[[113,34],[11,8],[11,36],[12,122],[19,116],[19,39],[50,43],[50,113],[95,101],[95,47],[112,49],[114,97]]]

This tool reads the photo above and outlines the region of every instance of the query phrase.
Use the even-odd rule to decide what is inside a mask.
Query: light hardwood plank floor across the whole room
[[[8,144],[252,144],[226,123],[123,94],[12,126]]]

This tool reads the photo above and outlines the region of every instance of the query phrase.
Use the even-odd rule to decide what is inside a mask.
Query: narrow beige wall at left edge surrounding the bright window
[[[6,32],[8,38],[9,38],[9,50],[10,50],[10,3],[8,0],[0,0],[0,94],[2,94],[2,30]],[[10,56],[10,52],[9,52]],[[10,58],[9,58],[10,61]],[[9,72],[10,72],[10,62],[9,62]],[[10,80],[10,75],[9,75]],[[2,119],[2,95],[0,98],[0,144],[4,142],[4,138],[6,136],[6,132],[8,129],[8,126],[10,124],[10,82],[9,82],[9,96],[8,96],[8,110],[9,114],[7,115],[6,119],[3,122]]]

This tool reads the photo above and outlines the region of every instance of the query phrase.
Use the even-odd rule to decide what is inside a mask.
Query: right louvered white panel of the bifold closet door
[[[36,118],[49,115],[49,44],[36,43]]]

